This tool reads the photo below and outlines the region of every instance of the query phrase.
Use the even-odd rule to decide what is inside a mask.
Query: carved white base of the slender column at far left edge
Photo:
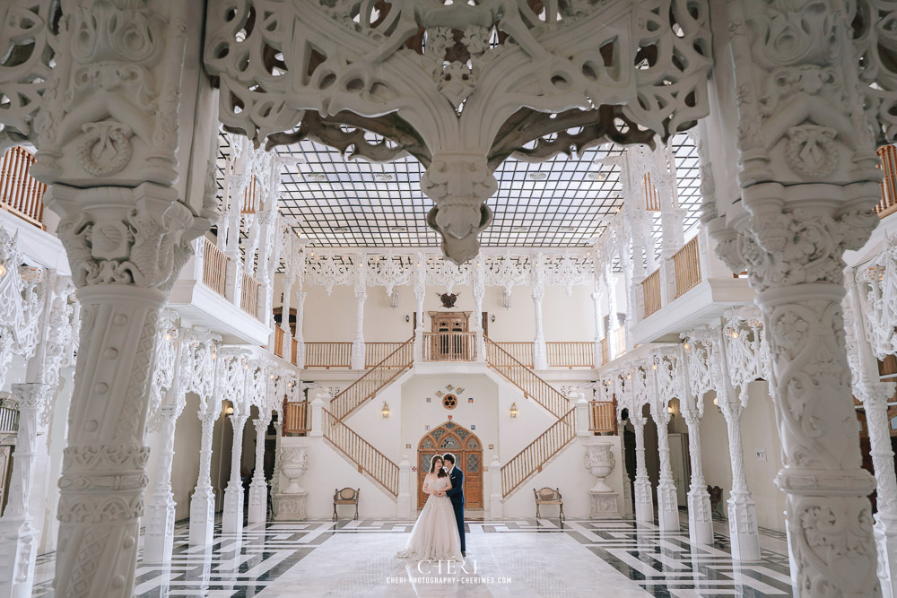
[[[0,520],[0,596],[30,598],[34,585],[34,563],[38,555],[40,531],[30,517],[18,522]]]

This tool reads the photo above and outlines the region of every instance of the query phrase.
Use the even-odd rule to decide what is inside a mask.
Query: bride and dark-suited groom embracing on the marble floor
[[[417,518],[400,559],[462,560],[464,544],[464,473],[455,466],[455,455],[436,455],[423,479],[430,496]]]

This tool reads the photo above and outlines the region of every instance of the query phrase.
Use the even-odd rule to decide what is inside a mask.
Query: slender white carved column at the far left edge
[[[9,498],[0,518],[0,592],[4,596],[28,598],[34,585],[34,565],[40,530],[29,511],[30,485],[34,474],[40,414],[48,408],[55,388],[38,382],[13,385],[19,397],[19,433],[13,451]]]

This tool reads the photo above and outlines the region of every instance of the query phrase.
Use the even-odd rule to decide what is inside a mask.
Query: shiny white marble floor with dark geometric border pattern
[[[684,513],[683,513],[684,515]],[[413,522],[361,519],[253,525],[187,545],[180,523],[170,566],[138,565],[138,596],[788,596],[784,534],[762,531],[762,560],[739,564],[727,524],[712,546],[631,519],[468,519],[463,567],[396,559]],[[39,558],[34,596],[53,596],[53,555]]]

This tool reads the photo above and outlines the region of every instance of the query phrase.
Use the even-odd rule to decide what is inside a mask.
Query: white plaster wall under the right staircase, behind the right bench
[[[623,513],[623,455],[621,455],[620,437],[577,437],[567,445],[551,464],[536,473],[535,476],[520,485],[518,490],[506,498],[502,515],[505,518],[536,516],[536,499],[533,490],[557,488],[563,498],[563,512],[567,517],[587,517],[589,510],[588,490],[595,486],[595,478],[586,471],[584,458],[585,445],[607,443],[611,445],[616,465],[607,477],[607,485],[618,493],[617,510]],[[557,507],[542,507],[543,517],[553,518],[557,515]]]

